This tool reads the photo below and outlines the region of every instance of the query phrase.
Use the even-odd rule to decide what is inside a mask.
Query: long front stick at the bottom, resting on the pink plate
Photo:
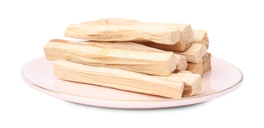
[[[54,74],[68,81],[171,98],[181,98],[184,88],[182,82],[170,82],[132,71],[89,66],[65,60],[54,62]]]

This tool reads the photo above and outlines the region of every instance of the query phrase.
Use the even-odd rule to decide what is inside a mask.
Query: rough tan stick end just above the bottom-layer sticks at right
[[[188,62],[188,66],[186,70],[191,71],[194,74],[201,75],[203,73],[203,60],[201,59],[201,61],[198,64]]]

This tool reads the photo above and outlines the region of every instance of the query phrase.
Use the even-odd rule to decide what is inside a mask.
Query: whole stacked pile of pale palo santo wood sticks
[[[108,18],[71,24],[65,36],[87,41],[52,39],[44,52],[68,81],[181,98],[198,93],[211,69],[206,31],[188,24]]]

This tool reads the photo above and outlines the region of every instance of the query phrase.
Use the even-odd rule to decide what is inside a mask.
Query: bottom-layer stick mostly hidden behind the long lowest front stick
[[[183,82],[184,90],[183,95],[193,96],[195,93],[201,91],[201,75],[192,73],[172,73],[170,76],[155,76],[159,79],[172,81],[172,82]]]

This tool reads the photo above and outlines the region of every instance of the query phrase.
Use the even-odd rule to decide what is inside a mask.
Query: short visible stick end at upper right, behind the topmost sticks
[[[203,44],[208,49],[209,38],[205,30],[194,30],[194,43]]]

